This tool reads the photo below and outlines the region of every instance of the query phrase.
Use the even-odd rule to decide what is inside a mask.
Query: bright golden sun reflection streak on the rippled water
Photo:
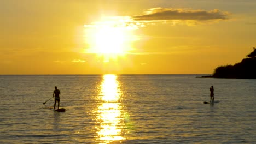
[[[125,140],[121,135],[124,129],[123,110],[119,103],[120,90],[117,75],[104,75],[101,84],[101,93],[98,99],[102,101],[98,105],[97,120],[100,123],[97,131],[97,139],[102,143]]]

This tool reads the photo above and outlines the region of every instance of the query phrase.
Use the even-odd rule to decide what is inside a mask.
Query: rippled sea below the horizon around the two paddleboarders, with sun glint
[[[2,75],[0,143],[256,143],[256,80],[195,76]]]

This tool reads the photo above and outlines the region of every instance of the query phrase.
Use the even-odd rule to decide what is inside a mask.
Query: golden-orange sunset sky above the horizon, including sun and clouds
[[[212,74],[256,47],[255,0],[0,0],[0,74]]]

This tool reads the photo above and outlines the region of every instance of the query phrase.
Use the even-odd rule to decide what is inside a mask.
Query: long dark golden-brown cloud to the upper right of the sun
[[[193,10],[193,9],[172,9],[172,8],[152,8],[145,11],[146,14],[132,16],[134,21],[207,21],[207,20],[227,20],[229,13],[214,9]]]

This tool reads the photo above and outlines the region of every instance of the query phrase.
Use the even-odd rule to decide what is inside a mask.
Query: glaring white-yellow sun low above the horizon
[[[137,25],[132,24],[129,17],[104,17],[84,27],[85,41],[89,45],[85,53],[103,56],[104,62],[132,51],[132,42],[138,39],[133,34]]]

